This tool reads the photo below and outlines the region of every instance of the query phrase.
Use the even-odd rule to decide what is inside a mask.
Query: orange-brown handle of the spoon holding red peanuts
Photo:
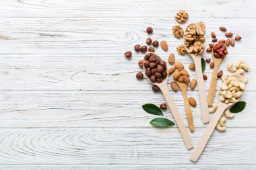
[[[217,85],[217,76],[218,76],[218,69],[220,67],[219,62],[214,62],[214,72],[212,73],[212,80],[210,84],[210,89],[208,93],[208,100],[207,103],[209,106],[212,106],[212,103],[214,102],[214,95],[216,91],[216,85]]]

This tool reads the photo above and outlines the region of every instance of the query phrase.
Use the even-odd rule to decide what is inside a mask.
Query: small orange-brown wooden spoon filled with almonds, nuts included
[[[177,85],[179,85],[183,93],[183,98],[185,103],[185,112],[187,116],[187,122],[189,124],[189,130],[190,132],[194,132],[195,128],[194,128],[194,122],[193,122],[193,115],[191,112],[189,99],[187,98],[187,85],[190,82],[189,73],[185,69],[179,69],[173,73],[172,77],[174,81],[176,81]]]

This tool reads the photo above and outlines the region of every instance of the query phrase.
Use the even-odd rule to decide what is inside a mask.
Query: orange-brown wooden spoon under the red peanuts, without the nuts
[[[218,44],[223,44],[223,43],[218,43]],[[217,44],[215,44],[214,46],[216,45]],[[222,58],[216,58],[214,56],[213,50],[212,50],[212,58],[214,58],[214,71],[212,72],[212,80],[211,80],[210,89],[208,93],[207,103],[209,106],[212,106],[212,103],[214,102],[214,94],[216,91],[216,85],[217,85],[217,79],[218,79],[218,70],[219,70],[220,64],[222,63]]]

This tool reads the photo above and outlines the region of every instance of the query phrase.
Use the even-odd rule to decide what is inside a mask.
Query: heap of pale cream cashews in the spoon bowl
[[[235,103],[236,99],[240,98],[245,89],[243,79],[238,80],[236,77],[226,78],[220,87],[220,101],[225,103]]]

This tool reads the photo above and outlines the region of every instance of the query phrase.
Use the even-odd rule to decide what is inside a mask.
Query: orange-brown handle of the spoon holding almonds
[[[193,115],[189,104],[189,99],[187,99],[187,88],[183,91],[183,98],[185,103],[185,112],[187,116],[187,123],[189,124],[190,132],[194,132],[194,122],[193,122]]]

